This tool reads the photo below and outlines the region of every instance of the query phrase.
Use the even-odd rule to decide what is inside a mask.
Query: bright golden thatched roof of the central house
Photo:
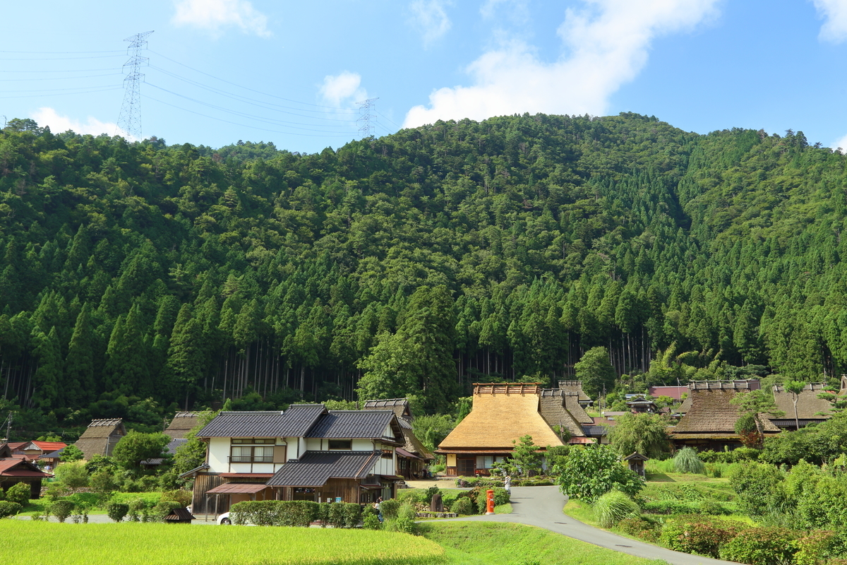
[[[439,449],[511,450],[512,440],[531,435],[536,446],[562,446],[539,412],[538,385],[476,385],[471,413],[440,443]]]

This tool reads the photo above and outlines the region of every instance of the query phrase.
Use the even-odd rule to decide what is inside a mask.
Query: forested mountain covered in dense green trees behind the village
[[[800,132],[637,114],[438,122],[313,155],[15,119],[0,409],[62,426],[361,389],[437,411],[471,382],[571,375],[592,346],[619,374],[675,344],[820,379],[847,370],[845,190],[847,157]]]

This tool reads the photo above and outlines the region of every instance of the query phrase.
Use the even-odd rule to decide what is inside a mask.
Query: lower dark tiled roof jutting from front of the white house
[[[299,461],[285,463],[267,485],[316,487],[329,479],[363,479],[379,457],[379,451],[306,451]]]

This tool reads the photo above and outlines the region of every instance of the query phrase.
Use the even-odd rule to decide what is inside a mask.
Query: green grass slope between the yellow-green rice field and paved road
[[[664,561],[573,540],[519,523],[422,524],[424,537],[446,548],[449,565],[659,565]]]

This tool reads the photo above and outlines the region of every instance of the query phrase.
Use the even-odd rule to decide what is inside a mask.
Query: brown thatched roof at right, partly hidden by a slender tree
[[[679,419],[671,430],[673,437],[678,434],[735,434],[735,422],[739,418],[739,407],[730,404],[737,391],[735,389],[698,389],[689,391],[691,408]],[[778,432],[779,429],[767,418],[760,418],[762,429]]]

